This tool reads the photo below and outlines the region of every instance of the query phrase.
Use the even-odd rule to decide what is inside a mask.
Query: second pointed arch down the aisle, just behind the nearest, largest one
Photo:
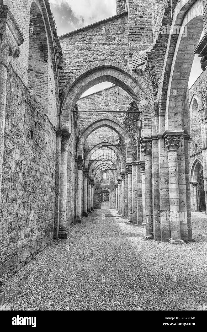
[[[90,124],[87,129],[81,134],[79,141],[77,142],[77,157],[79,159],[84,159],[84,153],[83,153],[83,147],[84,142],[87,139],[87,137],[94,132],[96,129],[101,127],[108,127],[110,129],[113,129],[118,135],[121,136],[122,141],[126,145],[126,162],[132,162],[132,144],[130,141],[129,136],[126,133],[126,130],[124,130],[119,124],[116,122],[109,120],[109,119],[102,119],[97,120]]]

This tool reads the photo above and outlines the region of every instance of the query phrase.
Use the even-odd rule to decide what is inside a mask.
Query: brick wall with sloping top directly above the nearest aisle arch
[[[60,37],[60,42],[60,88],[80,69],[97,61],[111,60],[128,66],[128,14],[68,33]]]

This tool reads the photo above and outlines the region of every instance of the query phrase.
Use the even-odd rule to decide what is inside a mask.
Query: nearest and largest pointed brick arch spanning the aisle
[[[82,69],[65,85],[60,97],[61,130],[69,131],[69,114],[80,96],[92,86],[105,81],[120,86],[134,99],[139,110],[144,113],[144,119],[146,118],[146,121],[143,119],[144,134],[151,134],[149,119],[152,119],[150,107],[155,100],[154,95],[142,76],[114,61],[101,61]]]

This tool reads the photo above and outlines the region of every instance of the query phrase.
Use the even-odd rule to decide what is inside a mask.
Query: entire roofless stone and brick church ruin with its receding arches
[[[115,16],[58,37],[48,0],[0,1],[0,276],[95,209],[146,240],[192,240],[191,211],[207,206],[206,9],[117,0]]]

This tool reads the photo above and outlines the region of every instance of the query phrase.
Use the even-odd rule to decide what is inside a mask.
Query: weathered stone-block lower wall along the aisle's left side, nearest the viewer
[[[6,105],[0,275],[9,277],[53,239],[56,134],[11,67]]]

